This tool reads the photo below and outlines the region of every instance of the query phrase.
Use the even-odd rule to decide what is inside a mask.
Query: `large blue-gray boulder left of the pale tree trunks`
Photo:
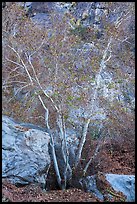
[[[32,125],[31,125],[32,127]],[[2,117],[2,178],[13,184],[45,184],[50,165],[50,137],[39,127],[30,128]]]

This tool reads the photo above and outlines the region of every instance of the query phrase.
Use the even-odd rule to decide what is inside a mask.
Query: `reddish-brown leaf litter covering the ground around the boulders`
[[[93,156],[97,145],[96,140],[87,136],[80,167]],[[116,139],[104,140],[100,150],[88,168],[87,175],[98,172],[115,174],[135,174],[135,145],[129,138],[118,141]],[[2,202],[99,202],[91,193],[79,189],[75,183],[67,190],[58,190],[55,181],[55,172],[50,170],[48,176],[49,191],[43,191],[38,185],[16,187],[8,181],[2,182]],[[75,182],[75,180],[74,180]]]

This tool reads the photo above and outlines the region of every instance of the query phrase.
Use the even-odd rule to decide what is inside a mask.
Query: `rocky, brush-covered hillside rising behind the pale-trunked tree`
[[[4,7],[3,113],[45,125],[37,97],[40,87],[36,81],[30,83],[26,73],[27,69],[34,77],[33,65],[69,128],[80,130],[90,118],[91,132],[134,135],[134,17],[132,2],[27,2]],[[50,99],[43,100],[56,128],[55,107]]]

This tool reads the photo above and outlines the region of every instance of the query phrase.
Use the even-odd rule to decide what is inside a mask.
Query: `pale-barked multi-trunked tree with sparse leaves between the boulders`
[[[68,180],[72,178],[73,174],[72,166],[69,163],[70,152],[67,145],[66,127],[67,123],[69,123],[66,120],[67,117],[69,118],[67,112],[69,112],[70,107],[77,106],[77,108],[83,108],[84,113],[88,113],[84,116],[84,120],[82,119],[83,128],[73,164],[76,169],[81,160],[96,104],[99,102],[99,104],[102,104],[105,101],[104,106],[108,110],[104,108],[104,111],[113,115],[110,102],[107,101],[108,98],[105,100],[105,97],[102,97],[102,99],[101,94],[99,94],[100,90],[105,87],[105,85],[102,85],[102,75],[110,71],[109,67],[111,67],[112,72],[113,61],[117,56],[115,52],[119,45],[118,43],[123,44],[129,40],[128,36],[121,36],[121,32],[124,32],[122,23],[124,24],[132,17],[132,9],[126,14],[122,12],[113,26],[106,26],[103,40],[95,38],[94,30],[91,33],[89,32],[90,42],[92,41],[89,44],[81,42],[79,33],[82,33],[83,30],[81,25],[79,25],[80,23],[75,25],[76,27],[73,26],[73,30],[79,26],[78,35],[70,35],[70,30],[72,29],[70,19],[62,14],[52,13],[50,18],[52,22],[51,34],[51,28],[44,30],[37,28],[25,17],[23,10],[19,10],[18,7],[12,7],[12,11],[16,15],[12,14],[10,16],[9,13],[12,12],[7,12],[3,18],[3,103],[9,97],[7,109],[14,106],[16,110],[19,107],[17,112],[22,112],[23,114],[26,111],[28,114],[28,110],[32,112],[35,104],[40,102],[42,111],[37,110],[36,114],[31,114],[31,116],[32,119],[38,118],[37,121],[44,121],[45,123],[51,138],[50,146],[57,182],[61,189],[65,189]],[[96,9],[95,14],[97,15],[98,12]],[[98,28],[95,27],[95,31],[96,29]],[[90,46],[90,48],[88,47],[86,50],[84,46]],[[88,52],[88,55],[85,55],[86,52]],[[123,60],[126,61],[126,58],[128,56],[124,56]],[[122,77],[125,77],[123,72],[121,73]],[[102,86],[104,87],[102,88]],[[115,86],[117,86],[116,82]],[[51,93],[48,92],[47,87],[51,87],[53,91]],[[78,90],[78,96],[73,91],[74,87]],[[17,94],[26,89],[27,91],[24,94],[26,98],[21,105],[19,101],[18,103],[17,101],[13,103],[14,96],[17,97]],[[11,94],[12,91],[13,94]],[[9,94],[9,96],[7,97],[6,94]],[[6,100],[4,100],[4,97]],[[114,98],[116,98],[116,94]],[[21,111],[22,106],[25,107],[25,111]],[[118,111],[121,111],[119,107],[120,104],[115,108],[114,119],[116,119]],[[54,118],[52,118],[52,114],[54,114]],[[82,118],[82,116],[79,116],[79,118]],[[60,171],[56,154],[53,124],[55,129],[59,130],[58,138],[61,141],[60,151],[64,163],[63,173]],[[110,130],[112,129],[110,120],[108,121],[108,127]],[[93,157],[85,165],[83,169],[84,174],[97,155],[99,147],[100,142]]]

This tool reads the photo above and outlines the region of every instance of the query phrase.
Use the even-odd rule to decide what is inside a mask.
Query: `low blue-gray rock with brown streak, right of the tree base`
[[[98,173],[80,179],[85,191],[101,201],[135,201],[135,176]]]

